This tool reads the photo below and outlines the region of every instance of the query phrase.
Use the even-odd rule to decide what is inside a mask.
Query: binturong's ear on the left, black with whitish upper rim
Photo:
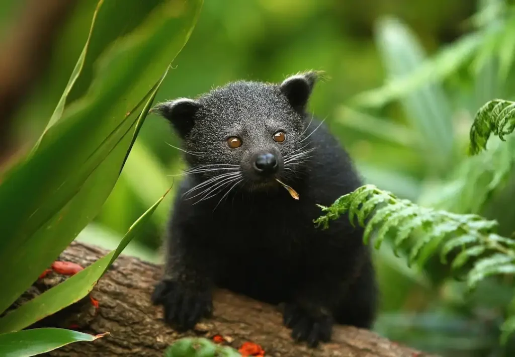
[[[156,105],[152,111],[165,117],[181,137],[187,135],[195,123],[195,113],[202,107],[190,98],[168,100]]]

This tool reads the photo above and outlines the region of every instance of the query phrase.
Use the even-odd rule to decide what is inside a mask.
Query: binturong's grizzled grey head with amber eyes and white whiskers
[[[154,110],[182,138],[191,173],[222,189],[266,189],[298,176],[310,156],[306,106],[316,81],[316,72],[282,83],[237,81]]]

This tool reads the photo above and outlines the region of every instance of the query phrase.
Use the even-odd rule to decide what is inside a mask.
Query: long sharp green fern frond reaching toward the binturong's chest
[[[419,230],[422,234],[410,242],[407,250],[408,263],[420,260],[424,248],[430,249],[426,254],[432,254],[441,247],[442,263],[447,263],[447,256],[453,253],[451,267],[456,270],[467,267],[466,280],[471,290],[487,277],[515,275],[515,240],[497,234],[495,220],[420,207],[374,185],[361,186],[331,206],[319,207],[325,214],[315,220],[318,226],[328,228],[330,220],[348,212],[352,224],[357,217],[358,224],[365,227],[366,244],[375,232],[375,248],[389,237],[397,251]],[[390,231],[394,233],[388,235]],[[503,329],[508,331],[512,325],[510,318]]]

